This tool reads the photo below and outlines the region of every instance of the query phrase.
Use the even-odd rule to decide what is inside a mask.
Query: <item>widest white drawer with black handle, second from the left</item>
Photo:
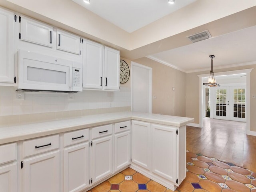
[[[24,157],[52,151],[60,147],[59,135],[48,136],[23,142]]]

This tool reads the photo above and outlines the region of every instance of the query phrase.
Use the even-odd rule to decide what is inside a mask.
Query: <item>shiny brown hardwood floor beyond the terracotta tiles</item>
[[[203,128],[187,126],[187,150],[232,162],[256,172],[256,136],[246,123],[204,118]]]

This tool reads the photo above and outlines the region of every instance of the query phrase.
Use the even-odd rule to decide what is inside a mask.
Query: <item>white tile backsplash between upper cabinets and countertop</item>
[[[68,112],[104,108],[130,107],[130,87],[118,92],[83,90],[74,94],[25,92],[18,99],[14,87],[0,86],[0,116]]]

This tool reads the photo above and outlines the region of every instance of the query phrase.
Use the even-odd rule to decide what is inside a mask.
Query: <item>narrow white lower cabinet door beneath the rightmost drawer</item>
[[[115,135],[115,172],[130,164],[130,131]]]

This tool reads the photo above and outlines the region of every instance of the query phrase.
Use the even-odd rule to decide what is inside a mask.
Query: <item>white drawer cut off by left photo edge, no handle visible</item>
[[[16,159],[17,159],[16,143],[0,146],[0,164],[15,161]]]

